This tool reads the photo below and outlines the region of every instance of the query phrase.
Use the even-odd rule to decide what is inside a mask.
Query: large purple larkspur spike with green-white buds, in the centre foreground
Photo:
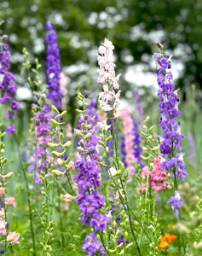
[[[95,108],[95,104],[92,102],[89,106]],[[81,223],[101,232],[107,230],[107,223],[110,222],[110,219],[100,212],[105,204],[105,196],[98,191],[98,188],[102,187],[97,149],[100,140],[100,137],[97,136],[99,126],[95,123],[97,117],[95,109],[91,109],[89,106],[87,108],[88,114],[84,114],[80,118],[78,129],[75,130],[76,134],[83,134],[78,143],[80,158],[75,160],[75,167],[78,170],[76,181],[79,188],[77,202],[82,212]],[[106,255],[101,243],[96,240],[95,233],[86,237],[83,248],[89,253],[88,255],[95,255],[98,252],[99,255]]]

